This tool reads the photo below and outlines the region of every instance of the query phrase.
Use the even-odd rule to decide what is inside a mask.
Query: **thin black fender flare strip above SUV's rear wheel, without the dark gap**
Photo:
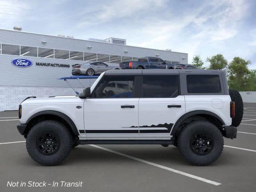
[[[224,121],[222,120],[222,118],[220,118],[218,115],[214,114],[213,112],[206,111],[206,110],[195,110],[195,111],[191,111],[191,112],[188,112],[188,113],[182,115],[176,121],[174,126],[172,127],[172,130],[171,130],[170,134],[174,135],[176,133],[176,131],[178,130],[178,128],[180,127],[180,125],[182,124],[182,122],[184,122],[184,120],[186,120],[187,118],[190,118],[191,116],[194,116],[194,115],[204,115],[204,114],[215,117],[216,119],[218,119],[222,123],[222,125],[225,124]],[[172,134],[172,133],[174,133],[174,134]]]

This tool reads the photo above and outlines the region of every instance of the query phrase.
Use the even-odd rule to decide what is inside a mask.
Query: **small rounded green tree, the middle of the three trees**
[[[223,70],[227,67],[228,61],[224,58],[222,54],[216,54],[211,58],[207,58],[208,62],[210,62],[210,66],[208,69],[220,69]]]

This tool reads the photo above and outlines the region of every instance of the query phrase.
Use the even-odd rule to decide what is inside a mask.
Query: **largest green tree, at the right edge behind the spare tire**
[[[234,57],[228,64],[228,85],[230,89],[239,91],[256,90],[256,70],[250,70],[250,60]]]

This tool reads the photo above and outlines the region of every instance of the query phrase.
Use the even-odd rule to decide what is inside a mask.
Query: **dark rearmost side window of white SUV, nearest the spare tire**
[[[187,75],[188,93],[221,93],[218,75]]]

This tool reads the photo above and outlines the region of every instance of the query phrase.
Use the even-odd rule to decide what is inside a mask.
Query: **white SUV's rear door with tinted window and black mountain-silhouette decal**
[[[142,76],[139,100],[139,132],[147,139],[170,139],[174,123],[185,113],[185,99],[180,95],[179,76]]]

